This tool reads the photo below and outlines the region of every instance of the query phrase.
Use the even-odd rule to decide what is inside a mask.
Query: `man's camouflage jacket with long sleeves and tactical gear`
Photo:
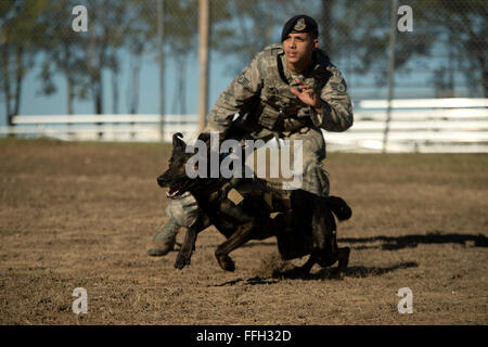
[[[291,88],[296,79],[312,86],[322,101],[322,114],[304,104]],[[272,131],[294,131],[309,126],[329,131],[345,131],[352,125],[352,106],[346,82],[328,55],[313,52],[312,64],[304,75],[286,67],[282,44],[272,44],[258,53],[253,62],[220,94],[208,116],[206,131],[228,129],[236,113],[253,107],[253,123]]]

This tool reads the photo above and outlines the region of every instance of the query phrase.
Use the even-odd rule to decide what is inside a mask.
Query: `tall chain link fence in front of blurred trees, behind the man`
[[[157,1],[1,0],[2,124],[37,94],[60,95],[66,114],[76,114],[78,102],[90,103],[94,114],[140,113],[141,94],[158,86],[141,75],[142,67],[158,68]],[[198,4],[163,4],[165,113],[195,113],[190,105]],[[394,98],[486,98],[488,2],[400,4],[411,8],[413,30],[397,33]],[[88,31],[73,29],[76,5],[88,10]],[[386,0],[210,0],[209,82],[222,70],[233,78],[258,51],[279,41],[288,17],[305,13],[318,21],[320,46],[345,75],[352,98],[385,99],[390,11]],[[26,80],[37,85],[36,95]],[[157,104],[151,112],[158,113]]]

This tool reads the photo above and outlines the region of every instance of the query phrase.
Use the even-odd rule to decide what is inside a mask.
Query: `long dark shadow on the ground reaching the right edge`
[[[414,248],[419,244],[446,244],[453,243],[466,246],[467,242],[473,242],[473,247],[488,247],[488,239],[483,234],[444,234],[440,232],[431,232],[424,235],[413,234],[403,236],[373,236],[373,237],[342,237],[338,243],[368,244],[382,242],[382,245],[351,245],[354,249],[375,249],[397,250],[402,248]]]

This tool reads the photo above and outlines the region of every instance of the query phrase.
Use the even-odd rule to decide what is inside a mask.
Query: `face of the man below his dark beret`
[[[319,40],[308,33],[288,34],[283,41],[283,49],[290,64],[304,65],[311,60],[312,52],[319,47]]]

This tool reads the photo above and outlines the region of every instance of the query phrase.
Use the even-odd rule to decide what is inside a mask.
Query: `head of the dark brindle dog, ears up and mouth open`
[[[179,132],[172,136],[172,152],[169,167],[157,178],[157,184],[160,188],[169,188],[167,196],[170,198],[180,196],[197,184],[197,179],[190,179],[185,171],[187,162],[192,154],[185,153],[187,143],[182,138],[183,136]]]

